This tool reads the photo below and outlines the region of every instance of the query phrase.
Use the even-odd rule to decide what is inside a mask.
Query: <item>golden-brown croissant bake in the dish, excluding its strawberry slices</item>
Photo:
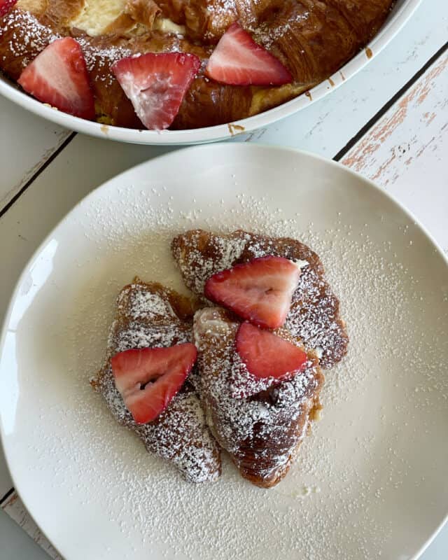
[[[377,33],[392,5],[393,0],[19,0],[0,18],[0,69],[18,80],[52,41],[73,36],[87,62],[95,118],[143,128],[111,67],[130,55],[185,52],[202,64],[171,128],[231,123],[328,78]],[[234,22],[284,66],[290,83],[232,85],[207,76],[207,61]]]

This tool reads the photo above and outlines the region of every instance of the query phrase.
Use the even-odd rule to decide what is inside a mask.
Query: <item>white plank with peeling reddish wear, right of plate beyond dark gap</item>
[[[402,202],[448,253],[448,52],[342,161]]]

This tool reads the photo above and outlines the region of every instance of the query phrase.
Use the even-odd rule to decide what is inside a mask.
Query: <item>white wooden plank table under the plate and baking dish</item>
[[[447,0],[424,0],[392,43],[330,97],[234,141],[341,161],[398,197],[448,253],[447,39]],[[74,134],[0,98],[0,321],[22,267],[66,212],[113,175],[169,149]],[[0,505],[1,560],[48,559],[1,451]],[[448,527],[421,558],[448,559]]]

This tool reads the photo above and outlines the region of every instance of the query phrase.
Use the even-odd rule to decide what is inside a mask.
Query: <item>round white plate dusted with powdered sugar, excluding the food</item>
[[[323,417],[273,489],[227,459],[215,484],[184,482],[89,385],[120,288],[185,290],[169,241],[197,227],[304,240],[348,325]],[[67,560],[415,558],[448,511],[447,332],[447,260],[369,181],[280,148],[170,153],[86,197],[20,277],[0,358],[15,487]]]

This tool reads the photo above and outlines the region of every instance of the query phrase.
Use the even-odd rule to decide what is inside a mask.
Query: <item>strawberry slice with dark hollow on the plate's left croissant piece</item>
[[[151,422],[179,393],[196,361],[194,344],[127,350],[111,360],[115,384],[139,424]]]

